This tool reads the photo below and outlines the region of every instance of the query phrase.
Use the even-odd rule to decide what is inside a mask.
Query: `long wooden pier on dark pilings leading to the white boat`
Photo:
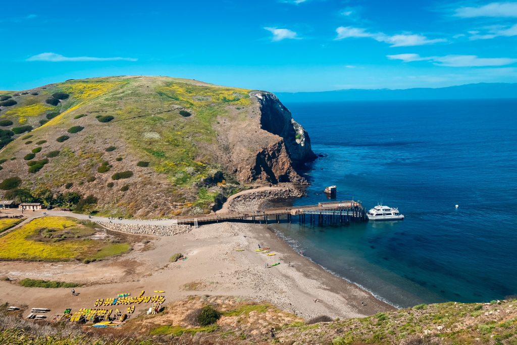
[[[298,216],[298,217],[296,217]],[[183,216],[176,219],[178,224],[190,224],[197,226],[202,223],[217,223],[225,221],[251,221],[264,222],[269,221],[280,222],[286,219],[291,223],[293,217],[297,218],[299,223],[310,223],[315,225],[338,224],[363,222],[367,220],[366,210],[364,210],[361,202],[347,200],[318,203],[317,205],[307,206],[291,206],[279,208],[266,208],[260,210],[247,210],[239,212],[226,213],[209,213],[199,216]]]

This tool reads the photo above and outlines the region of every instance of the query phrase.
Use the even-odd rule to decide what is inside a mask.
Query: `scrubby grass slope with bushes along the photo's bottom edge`
[[[100,331],[69,323],[36,324],[0,309],[0,343],[514,345],[517,300],[419,305],[367,318],[302,321],[270,304],[205,295],[172,302],[163,313]]]

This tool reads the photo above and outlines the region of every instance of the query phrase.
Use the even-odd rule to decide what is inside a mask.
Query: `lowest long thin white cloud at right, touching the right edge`
[[[418,54],[397,54],[387,55],[391,60],[402,60],[403,62],[431,61],[435,65],[445,67],[494,67],[504,66],[517,62],[512,58],[480,58],[477,55],[445,55],[421,57]]]

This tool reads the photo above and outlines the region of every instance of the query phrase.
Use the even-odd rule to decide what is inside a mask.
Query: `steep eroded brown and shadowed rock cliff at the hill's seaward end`
[[[230,170],[244,183],[307,183],[299,170],[316,158],[309,134],[274,94],[250,96],[249,121],[227,128]]]

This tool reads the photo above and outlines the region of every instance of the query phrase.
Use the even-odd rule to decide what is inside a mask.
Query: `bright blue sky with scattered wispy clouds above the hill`
[[[269,91],[517,82],[517,2],[9,1],[0,90],[169,75]]]

